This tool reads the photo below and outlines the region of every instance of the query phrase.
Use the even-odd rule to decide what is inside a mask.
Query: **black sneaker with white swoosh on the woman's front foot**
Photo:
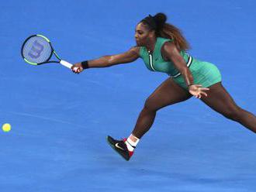
[[[129,161],[130,157],[133,156],[133,151],[129,151],[126,146],[126,139],[123,140],[116,140],[112,139],[111,136],[107,136],[107,142],[109,142],[109,145],[112,147],[112,149],[115,149],[119,155],[123,156],[126,161]]]

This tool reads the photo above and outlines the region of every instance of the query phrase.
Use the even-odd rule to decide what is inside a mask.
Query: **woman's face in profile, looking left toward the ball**
[[[147,29],[147,26],[145,26],[142,22],[140,22],[136,26],[135,36],[134,36],[137,46],[145,46],[149,35],[150,35],[150,30]]]

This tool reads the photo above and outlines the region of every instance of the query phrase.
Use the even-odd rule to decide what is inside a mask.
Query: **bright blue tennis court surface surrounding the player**
[[[0,2],[0,191],[254,192],[253,132],[192,98],[157,112],[129,162],[106,135],[130,135],[146,98],[168,76],[142,60],[82,74],[56,64],[32,66],[24,39],[43,34],[71,63],[122,53],[148,14],[164,12],[182,29],[189,53],[215,63],[223,85],[256,113],[256,2],[4,1]]]

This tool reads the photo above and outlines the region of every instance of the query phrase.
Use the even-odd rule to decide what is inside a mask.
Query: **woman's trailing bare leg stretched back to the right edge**
[[[256,133],[255,115],[238,107],[221,82],[210,86],[207,94],[208,97],[201,98],[206,105]]]

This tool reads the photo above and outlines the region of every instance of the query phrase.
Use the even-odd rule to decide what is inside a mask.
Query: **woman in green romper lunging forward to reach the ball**
[[[110,146],[126,160],[130,159],[138,142],[150,129],[157,110],[186,101],[192,96],[201,99],[226,118],[256,132],[256,117],[236,105],[221,84],[220,71],[212,63],[195,60],[185,53],[189,44],[179,29],[166,23],[166,19],[166,15],[158,13],[141,20],[135,33],[137,46],[126,53],[83,61],[72,67],[73,72],[79,74],[88,68],[130,63],[140,57],[149,70],[170,76],[147,98],[128,139],[107,137]]]

